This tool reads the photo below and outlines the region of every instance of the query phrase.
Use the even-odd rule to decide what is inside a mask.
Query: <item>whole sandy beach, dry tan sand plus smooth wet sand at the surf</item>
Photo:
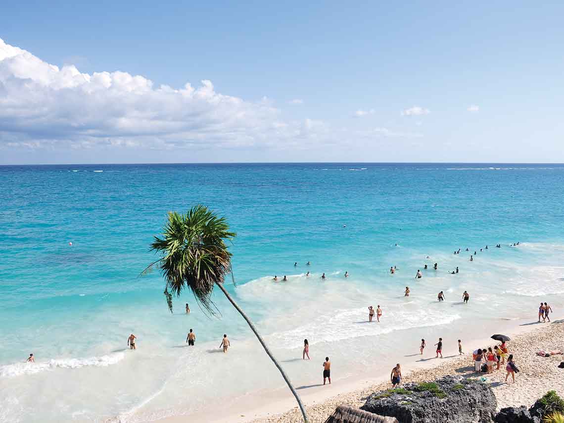
[[[493,332],[492,332],[493,333]],[[530,407],[536,399],[548,390],[556,390],[564,396],[564,369],[557,368],[562,361],[561,355],[551,357],[536,356],[536,351],[542,349],[564,350],[564,320],[553,319],[550,323],[536,324],[530,321],[515,321],[512,329],[506,331],[512,338],[508,342],[509,352],[515,355],[515,363],[521,372],[515,377],[516,383],[503,383],[505,370],[494,370],[493,374],[474,373],[472,350],[479,345],[482,347],[499,344],[488,337],[465,341],[465,355],[451,354],[453,348],[444,348],[444,359],[428,357],[424,353],[421,359],[419,354],[407,357],[401,356],[398,361],[402,363],[404,382],[433,380],[446,374],[459,374],[461,377],[485,376],[492,386],[497,399],[497,409],[511,405],[526,405]],[[430,342],[429,342],[430,343]],[[431,347],[429,344],[427,348]],[[427,349],[427,353],[434,352]],[[418,356],[418,357],[417,357]],[[414,359],[415,357],[415,359]],[[406,360],[411,358],[411,360]],[[391,364],[391,367],[395,365]],[[543,380],[539,381],[539,375]],[[534,383],[533,383],[534,382]],[[546,382],[546,383],[544,383]],[[320,386],[319,386],[320,385]],[[363,377],[350,377],[344,380],[333,381],[330,386],[314,383],[311,386],[297,387],[311,423],[323,423],[331,415],[337,405],[348,404],[360,407],[364,404],[363,398],[369,394],[390,388],[389,370],[378,374],[366,374]],[[226,404],[227,405],[227,404]],[[209,412],[200,411],[183,416],[170,416],[158,421],[162,423],[180,423],[191,421],[208,421],[213,423],[294,423],[303,421],[296,401],[289,392],[288,387],[270,392],[253,392],[239,398],[237,404],[229,407],[224,415],[210,416]]]

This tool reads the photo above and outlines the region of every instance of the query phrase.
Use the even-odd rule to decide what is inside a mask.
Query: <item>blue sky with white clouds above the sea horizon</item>
[[[564,2],[393,3],[8,2],[0,164],[564,162]]]

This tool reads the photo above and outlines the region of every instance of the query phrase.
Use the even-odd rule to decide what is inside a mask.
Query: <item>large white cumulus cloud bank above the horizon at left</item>
[[[209,80],[173,88],[127,72],[82,73],[0,39],[0,147],[278,146],[327,134],[319,121],[284,121],[267,98],[220,94]]]

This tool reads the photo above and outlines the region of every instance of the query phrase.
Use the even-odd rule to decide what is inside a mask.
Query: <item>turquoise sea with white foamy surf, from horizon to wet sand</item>
[[[166,212],[197,203],[237,232],[228,290],[297,386],[319,383],[325,355],[338,382],[422,337],[454,351],[456,337],[536,320],[540,300],[564,306],[564,165],[7,166],[0,184],[0,421],[154,421],[289,395],[221,291],[217,317],[188,292],[171,314],[158,271],[139,277]],[[366,324],[377,304],[382,322]]]

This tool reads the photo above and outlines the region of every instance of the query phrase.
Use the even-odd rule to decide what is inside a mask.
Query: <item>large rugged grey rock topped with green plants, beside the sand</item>
[[[445,376],[374,393],[360,408],[399,423],[492,423],[496,406],[488,384]]]

